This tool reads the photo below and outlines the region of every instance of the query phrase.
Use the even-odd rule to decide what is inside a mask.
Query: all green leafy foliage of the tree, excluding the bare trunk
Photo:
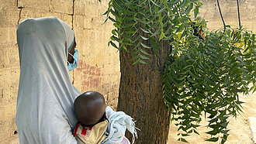
[[[109,45],[133,54],[133,64],[145,64],[150,50],[157,54],[168,40],[173,50],[163,74],[164,102],[179,122],[178,140],[199,134],[204,114],[211,129],[206,133],[214,135],[207,141],[216,142],[222,134],[224,143],[228,117],[242,108],[238,93],[256,91],[255,34],[240,28],[202,35],[201,5],[199,0],[110,0],[106,21],[115,29]]]

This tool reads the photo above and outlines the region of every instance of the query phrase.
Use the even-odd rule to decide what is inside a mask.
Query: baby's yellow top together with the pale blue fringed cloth
[[[106,108],[106,115],[109,120],[99,122],[93,127],[82,126],[79,122],[74,129],[74,136],[78,144],[130,144],[125,137],[126,129],[133,134],[133,142],[137,132],[133,118],[123,111],[113,111]]]

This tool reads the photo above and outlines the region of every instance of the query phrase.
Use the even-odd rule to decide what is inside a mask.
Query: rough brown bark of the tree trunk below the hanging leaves
[[[166,143],[170,124],[170,111],[163,101],[162,77],[166,57],[171,52],[167,42],[162,49],[151,54],[147,64],[132,66],[133,55],[120,50],[121,80],[119,85],[118,111],[134,118],[138,132],[135,143]],[[127,136],[131,140],[131,135]]]

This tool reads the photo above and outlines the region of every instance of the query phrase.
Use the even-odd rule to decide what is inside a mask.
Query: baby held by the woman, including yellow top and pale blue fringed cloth
[[[74,111],[78,124],[74,136],[78,144],[130,144],[125,132],[137,137],[133,118],[123,111],[113,111],[107,107],[102,94],[97,91],[87,91],[74,101]],[[108,116],[108,118],[107,118]]]

